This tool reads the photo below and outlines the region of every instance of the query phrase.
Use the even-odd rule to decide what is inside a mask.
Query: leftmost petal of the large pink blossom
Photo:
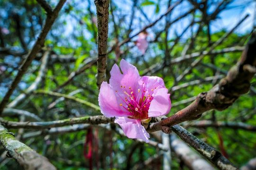
[[[102,82],[98,100],[101,113],[107,118],[115,116],[131,116],[131,113],[128,110],[123,106],[120,106],[120,104],[124,105],[124,101],[117,96],[117,93],[111,89],[107,82]]]

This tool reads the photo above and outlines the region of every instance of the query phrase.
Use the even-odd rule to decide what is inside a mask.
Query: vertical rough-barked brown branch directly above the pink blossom
[[[106,77],[106,60],[108,51],[109,31],[109,0],[94,0],[97,10],[98,23],[98,59],[97,59],[97,86],[100,89],[101,83]]]

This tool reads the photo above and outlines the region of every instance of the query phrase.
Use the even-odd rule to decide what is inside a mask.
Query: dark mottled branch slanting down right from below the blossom
[[[229,160],[227,160],[219,151],[202,142],[196,136],[179,125],[171,127],[171,129],[187,144],[192,146],[197,152],[207,158],[219,170],[238,170]],[[208,170],[208,169],[207,169]]]

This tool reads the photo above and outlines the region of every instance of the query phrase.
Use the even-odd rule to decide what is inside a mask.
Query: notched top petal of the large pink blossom
[[[138,70],[135,66],[128,63],[126,60],[121,59],[120,68],[123,74],[120,73],[119,67],[115,64],[110,71],[110,85],[113,90],[117,90],[123,93],[127,89],[121,87],[131,87],[133,90],[137,90],[139,82],[141,83],[141,77],[139,76]]]

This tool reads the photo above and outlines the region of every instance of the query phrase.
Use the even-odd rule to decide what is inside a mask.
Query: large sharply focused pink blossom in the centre
[[[101,113],[116,117],[126,136],[149,142],[141,121],[166,115],[171,109],[170,94],[162,78],[139,76],[135,66],[122,59],[110,71],[110,84],[103,82],[99,94]]]

